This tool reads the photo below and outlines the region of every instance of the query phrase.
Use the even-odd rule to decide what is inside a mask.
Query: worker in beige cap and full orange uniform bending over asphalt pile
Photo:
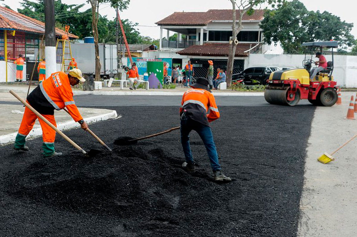
[[[86,130],[88,125],[83,120],[74,103],[71,88],[71,86],[77,85],[80,81],[84,82],[85,79],[82,77],[81,70],[77,68],[70,70],[68,74],[65,74],[64,72],[52,73],[50,77],[40,83],[29,96],[27,96],[27,102],[54,126],[56,126],[54,110],[61,110],[66,107],[74,121],[79,122],[81,127]],[[29,148],[25,146],[25,138],[32,130],[36,119],[36,114],[25,107],[25,113],[22,117],[19,133],[17,133],[15,139],[15,150],[29,150]],[[39,119],[39,122],[42,128],[42,148],[44,156],[60,156],[62,153],[55,152],[55,130],[41,119]]]

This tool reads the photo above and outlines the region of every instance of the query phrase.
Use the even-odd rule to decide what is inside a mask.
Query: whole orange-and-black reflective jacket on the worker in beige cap
[[[27,100],[40,114],[53,115],[55,109],[67,107],[74,121],[83,119],[75,105],[68,75],[64,72],[52,73],[27,96]]]

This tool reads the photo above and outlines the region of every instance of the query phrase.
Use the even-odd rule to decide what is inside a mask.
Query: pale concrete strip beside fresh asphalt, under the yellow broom
[[[356,93],[342,93],[342,105],[316,108],[306,150],[297,236],[357,236],[357,139],[334,154],[335,161],[317,161],[357,133],[357,120],[345,119],[351,95]]]

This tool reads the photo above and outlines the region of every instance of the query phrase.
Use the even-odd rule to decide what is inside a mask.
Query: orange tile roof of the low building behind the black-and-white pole
[[[0,6],[0,28],[9,30],[18,30],[44,34],[45,23],[32,19],[31,17],[20,14],[19,12],[12,11],[6,7]],[[65,31],[56,28],[56,35],[65,35]],[[70,38],[78,38],[73,34],[68,34]]]

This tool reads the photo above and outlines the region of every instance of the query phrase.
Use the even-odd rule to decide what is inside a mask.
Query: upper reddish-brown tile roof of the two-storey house
[[[239,19],[239,11],[237,19]],[[263,20],[265,10],[254,10],[252,15],[243,15],[244,21]],[[187,26],[205,26],[212,21],[232,21],[232,10],[208,10],[207,12],[174,12],[170,16],[156,22],[159,26],[164,25],[187,25]]]

